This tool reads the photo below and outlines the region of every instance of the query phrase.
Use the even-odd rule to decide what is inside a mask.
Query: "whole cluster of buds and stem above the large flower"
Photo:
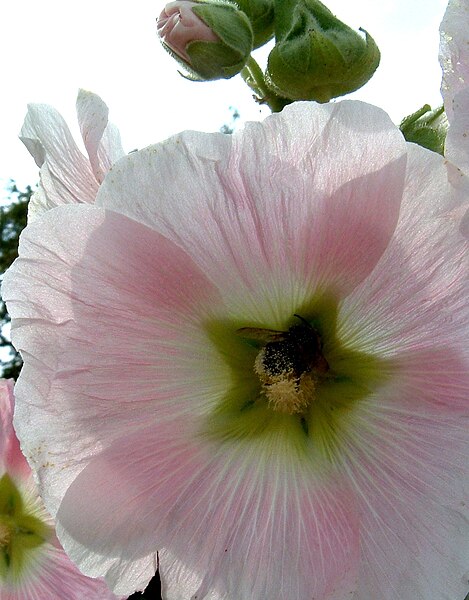
[[[176,0],[157,22],[164,47],[195,81],[241,73],[259,102],[328,102],[364,85],[380,54],[373,38],[319,0]],[[275,36],[265,73],[251,52]]]

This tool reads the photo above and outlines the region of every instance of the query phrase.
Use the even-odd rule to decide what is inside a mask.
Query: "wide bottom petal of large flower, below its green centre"
[[[167,546],[205,573],[194,597],[348,598],[359,548],[350,490],[321,480],[282,435],[227,446],[191,441],[177,425],[125,435],[80,473],[57,513],[71,555],[74,540],[96,557]]]

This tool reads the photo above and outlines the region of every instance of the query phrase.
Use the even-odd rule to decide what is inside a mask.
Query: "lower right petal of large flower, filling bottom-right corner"
[[[401,385],[397,372],[352,416],[344,468],[361,505],[360,599],[468,592],[469,421],[420,401],[429,386]]]

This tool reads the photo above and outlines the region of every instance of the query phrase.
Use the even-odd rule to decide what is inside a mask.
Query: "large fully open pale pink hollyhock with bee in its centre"
[[[3,294],[15,425],[115,593],[469,589],[468,242],[444,159],[358,102],[116,163],[30,224]]]

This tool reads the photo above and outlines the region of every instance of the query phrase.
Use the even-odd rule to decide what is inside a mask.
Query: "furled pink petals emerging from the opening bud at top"
[[[189,64],[187,44],[194,41],[218,42],[219,38],[193,12],[196,2],[176,0],[165,6],[157,20],[157,31],[161,41]]]

